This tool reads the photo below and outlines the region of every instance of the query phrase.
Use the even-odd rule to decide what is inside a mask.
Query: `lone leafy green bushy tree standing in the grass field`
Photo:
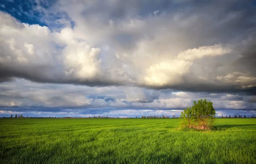
[[[181,122],[183,127],[211,129],[215,121],[215,109],[211,101],[201,99],[198,100],[198,103],[194,101],[193,106],[184,109],[184,111],[181,112],[181,118],[183,118]]]

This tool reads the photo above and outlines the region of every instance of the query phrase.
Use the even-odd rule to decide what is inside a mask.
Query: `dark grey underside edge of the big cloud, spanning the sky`
[[[9,72],[11,73],[11,72]],[[256,95],[256,86],[241,88],[238,85],[216,85],[206,83],[180,83],[179,85],[163,85],[163,86],[148,86],[148,85],[135,85],[135,84],[124,84],[121,82],[113,81],[102,81],[95,79],[93,81],[79,81],[76,79],[45,79],[39,77],[37,74],[26,75],[25,73],[19,74],[12,72],[8,75],[7,70],[0,71],[0,83],[14,81],[15,78],[23,78],[36,83],[53,83],[53,84],[73,84],[90,87],[103,87],[103,86],[132,86],[154,90],[172,89],[174,91],[185,91],[185,92],[208,92],[208,93],[238,93],[241,95]]]

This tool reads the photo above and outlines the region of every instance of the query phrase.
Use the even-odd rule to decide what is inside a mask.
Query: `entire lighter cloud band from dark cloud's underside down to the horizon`
[[[255,114],[255,96],[252,95],[174,92],[128,86],[60,85],[15,78],[0,84],[0,116],[23,114],[35,117],[35,111],[39,117],[180,116],[181,110],[192,106],[193,101],[199,98],[212,101],[221,115]]]

